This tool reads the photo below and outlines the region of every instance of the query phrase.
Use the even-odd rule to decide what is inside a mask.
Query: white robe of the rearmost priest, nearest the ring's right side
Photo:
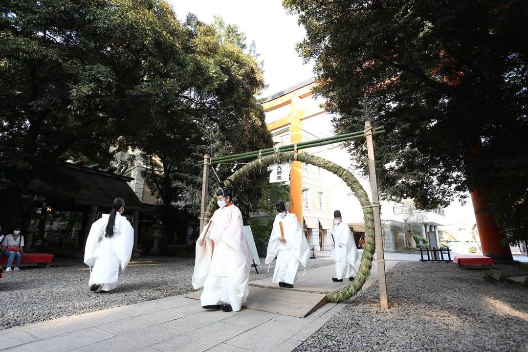
[[[345,222],[334,226],[334,249],[331,256],[335,262],[335,275],[338,280],[356,275],[357,247],[354,235]],[[341,245],[341,248],[340,248]]]

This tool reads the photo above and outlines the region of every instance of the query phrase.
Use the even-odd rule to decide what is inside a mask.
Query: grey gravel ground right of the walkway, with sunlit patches
[[[518,267],[497,265],[518,271]],[[400,262],[295,351],[528,351],[528,289],[454,263]]]

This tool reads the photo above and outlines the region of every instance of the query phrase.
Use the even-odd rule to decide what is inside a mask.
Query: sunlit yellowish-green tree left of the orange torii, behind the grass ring
[[[148,96],[150,110],[131,125],[134,132],[129,133],[130,144],[142,151],[146,182],[160,201],[166,243],[172,243],[176,227],[196,225],[201,178],[195,175],[201,174],[201,168],[190,160],[195,150],[228,155],[272,143],[254,98],[264,87],[262,70],[243,34],[220,17],[204,24],[188,15],[180,24],[174,14],[170,16],[179,28],[171,37],[180,35],[184,59],[160,65],[162,72],[153,75],[160,79],[148,80],[140,93]],[[222,166],[219,174],[225,178],[231,168]],[[253,187],[239,185],[235,190],[243,214],[248,215],[260,197],[261,180],[255,177]],[[218,183],[212,182],[211,192],[216,188]]]

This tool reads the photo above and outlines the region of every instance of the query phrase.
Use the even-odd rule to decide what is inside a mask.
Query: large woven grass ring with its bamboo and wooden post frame
[[[367,128],[368,127],[368,128]],[[385,133],[383,127],[371,127],[370,122],[365,122],[365,129],[363,131],[351,132],[350,134],[327,137],[324,139],[314,140],[310,142],[294,143],[288,146],[274,147],[268,150],[261,149],[252,151],[249,153],[242,153],[235,156],[225,156],[211,159],[209,155],[204,156],[204,161],[201,161],[199,165],[203,163],[204,166],[204,183],[202,187],[202,204],[200,213],[200,231],[203,230],[206,221],[209,221],[216,209],[216,197],[211,196],[209,203],[207,202],[207,191],[206,184],[209,183],[209,166],[215,164],[226,164],[230,161],[239,161],[244,159],[254,159],[250,163],[244,164],[244,166],[234,172],[231,176],[225,179],[225,186],[232,188],[239,179],[247,177],[249,174],[261,172],[262,169],[271,165],[272,163],[280,163],[285,161],[300,161],[301,163],[312,164],[317,167],[328,170],[329,172],[340,177],[345,184],[350,187],[353,194],[359,199],[361,208],[363,210],[363,220],[365,222],[365,234],[364,234],[364,245],[363,254],[361,255],[360,267],[357,270],[356,277],[348,284],[348,286],[334,291],[334,292],[318,292],[314,293],[325,293],[327,294],[329,302],[346,302],[353,298],[365,284],[367,277],[370,274],[372,268],[372,261],[374,259],[374,252],[378,253],[378,270],[380,280],[380,299],[382,308],[388,308],[388,299],[386,292],[386,279],[385,279],[385,263],[383,258],[383,240],[381,236],[381,218],[380,218],[380,203],[378,196],[378,188],[376,186],[376,174],[374,166],[374,147],[373,147],[373,136],[382,135]],[[369,196],[361,186],[360,182],[354,177],[350,170],[344,169],[331,161],[319,158],[314,155],[307,153],[299,153],[298,147],[301,145],[303,149],[312,148],[317,146],[323,146],[327,144],[339,143],[342,141],[349,140],[361,140],[366,138],[365,144],[369,155],[369,169],[371,174],[371,187],[373,202],[370,202]],[[360,148],[362,149],[362,148]],[[216,178],[218,175],[212,169]],[[220,179],[219,179],[220,183]],[[374,216],[374,214],[376,214]],[[258,286],[257,286],[258,287]],[[296,291],[296,289],[291,289]],[[312,292],[312,291],[309,291]]]

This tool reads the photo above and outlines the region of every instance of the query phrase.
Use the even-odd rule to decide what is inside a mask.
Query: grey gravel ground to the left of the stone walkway
[[[274,263],[269,273],[267,265],[258,267],[260,274],[251,268],[250,281],[271,277]],[[309,260],[308,268],[329,264],[330,258],[318,257]],[[88,290],[89,271],[81,260],[59,259],[50,269],[6,272],[0,279],[0,330],[191,292],[193,267],[194,259],[188,258],[132,260],[117,288],[109,293]]]

